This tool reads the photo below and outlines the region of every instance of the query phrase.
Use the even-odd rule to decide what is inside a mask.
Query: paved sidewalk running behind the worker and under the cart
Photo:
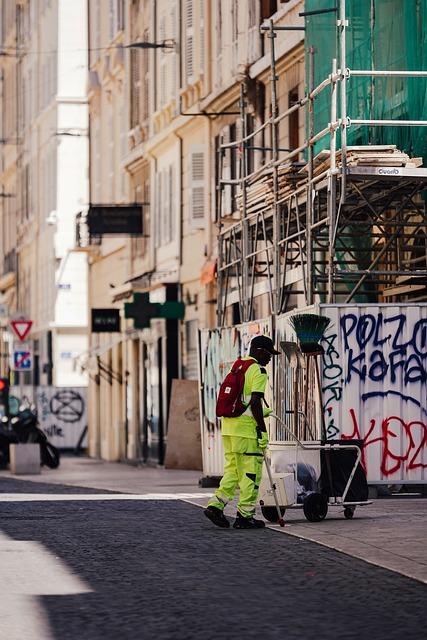
[[[135,467],[64,457],[59,469],[43,469],[41,475],[12,476],[8,471],[0,472],[0,492],[2,478],[14,478],[48,484],[52,488],[49,493],[55,493],[55,484],[69,485],[147,498],[161,495],[202,507],[212,490],[199,488],[200,476],[199,471]],[[13,500],[13,496],[3,493],[2,497],[0,493],[0,499]],[[228,505],[226,514],[234,516],[234,504]],[[375,500],[372,505],[359,507],[353,520],[345,520],[342,510],[332,508],[326,520],[320,523],[305,520],[301,510],[288,510],[285,522],[284,529],[269,526],[277,532],[317,542],[427,583],[427,499]]]

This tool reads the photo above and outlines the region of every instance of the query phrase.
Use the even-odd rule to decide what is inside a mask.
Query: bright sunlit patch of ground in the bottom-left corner
[[[42,544],[1,532],[0,567],[0,637],[8,640],[54,639],[38,596],[92,592]]]

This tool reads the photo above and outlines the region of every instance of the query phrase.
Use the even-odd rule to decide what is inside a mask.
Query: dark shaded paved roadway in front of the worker
[[[3,502],[0,532],[86,585],[39,592],[55,640],[426,637],[425,585],[272,530],[217,529],[181,501]]]

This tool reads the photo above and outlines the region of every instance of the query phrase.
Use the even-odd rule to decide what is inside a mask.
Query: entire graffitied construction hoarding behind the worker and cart
[[[362,463],[370,484],[427,482],[427,305],[322,304],[291,314],[301,312],[331,319],[319,362],[323,407],[313,369],[306,385],[302,363],[296,380],[295,368],[283,353],[277,361],[274,391],[269,389],[278,415],[300,439],[310,441],[320,438],[323,410],[328,439],[363,440]],[[296,340],[288,323],[291,314],[276,318],[277,344]],[[270,334],[269,321],[201,332],[201,423],[207,476],[222,473],[215,419],[219,385],[256,333]],[[300,411],[296,422],[295,406]],[[289,435],[276,425],[271,439],[286,441]]]

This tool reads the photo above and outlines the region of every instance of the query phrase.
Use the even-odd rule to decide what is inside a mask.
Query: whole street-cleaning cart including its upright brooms
[[[366,475],[360,464],[363,442],[327,439],[318,365],[318,359],[324,351],[318,339],[329,320],[314,314],[294,316],[292,320],[299,346],[294,342],[281,342],[280,346],[293,370],[294,407],[286,412],[293,415],[293,430],[279,416],[271,414],[281,430],[290,436],[290,441],[287,438],[284,442],[272,442],[268,454],[264,456],[264,463],[269,466],[260,485],[262,514],[266,520],[279,522],[283,526],[286,509],[301,508],[307,520],[320,522],[326,517],[329,507],[339,507],[344,511],[344,517],[351,519],[356,507],[370,502]],[[302,326],[304,323],[306,326]],[[307,323],[312,329],[314,326],[314,330],[307,331]],[[318,390],[320,439],[316,439],[317,430],[311,428],[307,419],[309,394],[314,396],[314,389],[309,390],[310,370],[314,372]],[[298,381],[302,371],[305,371],[304,411],[299,408]],[[301,416],[304,441],[296,434]]]

